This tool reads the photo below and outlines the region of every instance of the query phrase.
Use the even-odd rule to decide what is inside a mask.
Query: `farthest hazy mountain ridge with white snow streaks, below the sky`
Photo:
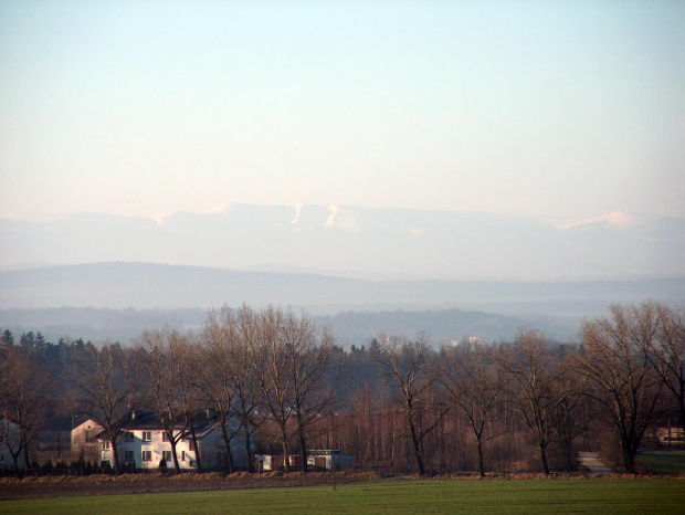
[[[685,275],[685,219],[610,213],[576,222],[392,208],[234,204],[157,220],[0,219],[0,266],[151,262],[330,271],[383,278],[554,280]]]

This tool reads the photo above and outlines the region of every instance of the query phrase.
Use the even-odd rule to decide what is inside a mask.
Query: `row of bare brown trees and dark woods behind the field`
[[[442,348],[423,334],[379,335],[348,351],[304,312],[276,307],[224,307],[201,330],[148,330],[133,347],[40,333],[15,343],[6,330],[0,435],[18,474],[60,409],[103,425],[117,473],[124,424],[145,410],[159,416],[177,470],[176,444],[210,412],[230,472],[234,448],[249,471],[254,452],[299,454],[306,472],[308,449],[339,449],[363,467],[481,475],[571,471],[578,451],[601,450],[636,472],[657,428],[685,429],[684,322],[656,303],[615,305],[582,324],[578,345],[521,330]]]

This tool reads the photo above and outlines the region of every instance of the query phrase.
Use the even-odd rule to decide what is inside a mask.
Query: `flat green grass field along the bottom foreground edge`
[[[330,486],[0,501],[0,513],[685,513],[685,480],[381,480]]]

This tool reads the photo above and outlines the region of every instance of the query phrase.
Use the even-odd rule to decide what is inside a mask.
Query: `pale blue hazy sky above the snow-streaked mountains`
[[[0,2],[0,214],[685,217],[685,2]]]

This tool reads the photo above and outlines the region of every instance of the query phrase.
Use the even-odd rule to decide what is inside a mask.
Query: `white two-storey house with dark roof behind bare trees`
[[[135,417],[125,424],[124,429],[117,442],[119,463],[124,467],[159,469],[160,462],[165,461],[169,470],[173,469],[171,443],[158,417],[155,414]],[[177,432],[176,435],[178,437],[179,433]],[[99,433],[96,438],[101,445],[102,461],[113,464],[114,453],[106,434]],[[176,444],[179,467],[197,470],[199,453],[203,470],[225,469],[228,455],[221,428],[217,421],[205,419],[200,422],[196,429],[196,439],[198,449],[193,445],[190,432],[183,433]],[[240,441],[235,442],[235,449],[232,446],[232,454],[235,466],[244,466],[244,445],[241,446]]]

